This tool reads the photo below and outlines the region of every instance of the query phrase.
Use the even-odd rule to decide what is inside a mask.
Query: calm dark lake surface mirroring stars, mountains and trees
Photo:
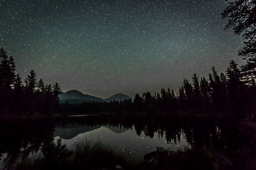
[[[236,119],[80,116],[3,121],[0,129],[0,168],[59,138],[70,150],[86,139],[99,141],[133,161],[142,161],[156,147],[171,152],[204,148],[213,159],[241,169],[255,152],[250,130]]]

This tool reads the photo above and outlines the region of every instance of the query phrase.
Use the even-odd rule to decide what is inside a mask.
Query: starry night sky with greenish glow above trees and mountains
[[[103,99],[159,92],[224,72],[243,39],[221,13],[224,0],[0,0],[0,48],[22,80],[58,82]]]

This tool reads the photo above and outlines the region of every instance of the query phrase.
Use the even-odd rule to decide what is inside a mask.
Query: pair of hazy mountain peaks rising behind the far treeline
[[[90,101],[96,101],[96,102],[110,102],[110,101],[120,101],[120,99],[123,101],[124,99],[130,99],[129,96],[117,93],[108,99],[101,99],[99,97],[83,94],[81,91],[78,90],[70,90],[67,92],[62,92],[61,95],[59,95],[59,100],[61,102],[68,101],[70,104],[77,103],[81,104],[82,102],[90,102]]]

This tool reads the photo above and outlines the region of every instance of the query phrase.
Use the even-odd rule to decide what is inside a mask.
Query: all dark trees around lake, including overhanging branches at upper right
[[[232,60],[226,74],[218,75],[214,67],[208,79],[196,74],[192,83],[184,79],[175,95],[169,88],[160,93],[150,92],[135,95],[132,100],[113,102],[90,102],[81,105],[61,103],[58,95],[61,90],[58,83],[53,87],[36,80],[35,71],[24,79],[22,84],[19,74],[15,73],[13,57],[8,57],[0,49],[0,110],[5,112],[43,113],[60,111],[72,112],[248,112],[256,110],[256,0],[234,0],[222,13],[228,18],[226,29],[233,28],[234,33],[245,39],[244,48],[239,55],[247,59],[241,68]],[[59,106],[59,108],[58,108]]]

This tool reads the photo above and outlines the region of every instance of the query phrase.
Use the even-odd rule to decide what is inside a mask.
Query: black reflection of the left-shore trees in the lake
[[[38,152],[42,143],[52,139],[54,124],[45,120],[1,121],[0,168],[13,169],[18,161],[29,157],[32,152]]]

